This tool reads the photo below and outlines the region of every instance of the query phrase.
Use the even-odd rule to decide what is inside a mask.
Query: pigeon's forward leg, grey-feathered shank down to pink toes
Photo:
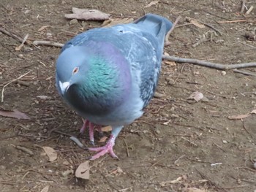
[[[96,155],[93,155],[90,158],[90,160],[95,160],[95,159],[99,158],[100,156],[105,155],[106,153],[110,153],[110,155],[113,158],[118,158],[118,156],[113,152],[113,146],[115,145],[116,137],[118,137],[118,134],[119,134],[119,132],[121,131],[122,128],[123,128],[123,126],[113,127],[111,135],[110,135],[110,139],[108,140],[108,142],[105,146],[89,148],[90,151],[99,152]]]

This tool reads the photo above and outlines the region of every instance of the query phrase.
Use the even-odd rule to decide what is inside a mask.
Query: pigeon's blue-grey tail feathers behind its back
[[[150,31],[157,37],[159,34],[161,34],[161,32],[164,32],[166,35],[170,28],[173,26],[173,23],[171,23],[170,20],[167,20],[167,18],[163,18],[154,14],[147,14],[142,18],[135,20],[134,23],[138,24],[145,31]]]

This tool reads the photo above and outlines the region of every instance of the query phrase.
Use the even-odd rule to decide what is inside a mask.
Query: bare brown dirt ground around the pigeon
[[[102,25],[96,21],[70,23],[64,14],[72,7],[99,9],[113,19],[136,19],[153,12],[174,21],[181,15],[166,53],[219,64],[256,61],[256,10],[240,14],[240,0],[160,0],[146,7],[150,2],[1,0],[0,27],[21,38],[29,34],[30,42],[64,43],[75,34]],[[256,7],[256,2],[248,1],[246,7],[250,6]],[[184,25],[189,23],[186,17],[206,25]],[[192,46],[203,37],[207,41]],[[93,153],[54,132],[78,136],[83,124],[55,88],[60,48],[25,45],[15,50],[20,45],[17,39],[4,33],[0,38],[1,91],[7,82],[29,72],[4,87],[1,110],[19,110],[31,118],[0,116],[1,192],[42,191],[46,186],[55,192],[256,190],[256,116],[228,118],[256,109],[255,77],[193,64],[163,63],[157,90],[162,95],[154,98],[143,117],[125,127],[116,140],[114,150],[120,161],[108,155],[90,161],[90,179],[81,180],[72,172]],[[256,74],[255,68],[241,70]],[[208,101],[188,100],[195,91]],[[79,139],[90,146],[88,133]],[[99,139],[96,133],[96,145],[103,145]],[[26,147],[33,154],[15,146]],[[44,146],[56,150],[56,161],[48,161]],[[67,171],[70,174],[64,176]]]

